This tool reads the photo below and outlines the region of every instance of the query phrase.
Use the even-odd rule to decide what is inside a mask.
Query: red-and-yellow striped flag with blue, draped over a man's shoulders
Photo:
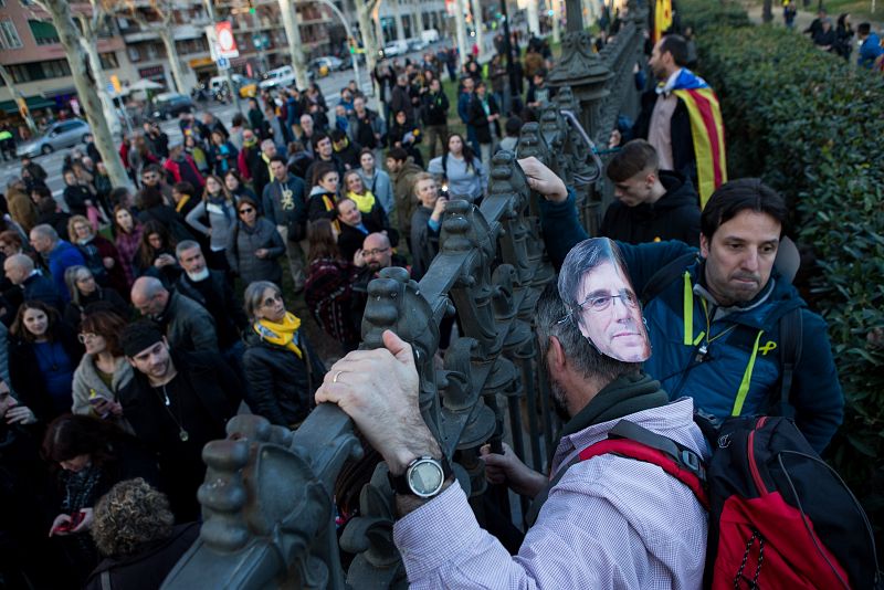
[[[675,93],[687,107],[697,161],[699,207],[704,208],[715,189],[727,182],[725,126],[718,97],[705,80],[687,69],[683,69],[674,84],[663,92]]]

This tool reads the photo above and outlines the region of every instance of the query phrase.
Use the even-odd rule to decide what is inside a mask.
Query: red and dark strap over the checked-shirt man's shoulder
[[[659,466],[684,485],[709,509],[706,492],[706,468],[703,459],[691,449],[655,432],[621,420],[608,434],[608,439],[580,451],[580,461],[593,456],[615,454]]]

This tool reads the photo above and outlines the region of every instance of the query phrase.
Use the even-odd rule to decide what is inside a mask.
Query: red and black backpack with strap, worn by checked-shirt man
[[[621,420],[580,460],[614,453],[687,485],[709,510],[708,588],[881,588],[865,513],[791,420],[735,418],[707,438],[713,456],[704,463],[684,445]]]

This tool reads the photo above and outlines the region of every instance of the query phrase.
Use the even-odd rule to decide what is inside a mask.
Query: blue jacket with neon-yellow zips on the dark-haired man
[[[540,206],[544,236],[550,259],[557,266],[576,243],[586,240],[580,226],[573,194],[562,203],[544,201]],[[641,294],[660,268],[680,256],[696,252],[681,242],[629,245],[619,243],[629,268],[632,285]],[[680,275],[644,307],[653,354],[644,364],[645,371],[659,379],[672,399],[694,398],[697,408],[717,417],[730,415],[737,391],[745,377],[749,388],[741,414],[768,411],[769,402],[779,394],[780,359],[779,319],[792,309],[800,309],[802,354],[794,368],[789,402],[804,438],[818,452],[831,440],[843,418],[844,397],[832,359],[825,322],[807,308],[798,291],[779,276],[776,268],[766,287],[743,306],[718,309],[705,289],[703,262],[686,265],[692,291],[685,293]],[[683,309],[685,299],[693,301],[694,333],[685,345]],[[711,340],[703,362],[696,362],[701,344],[693,341],[706,327],[702,301],[711,309],[711,331],[726,337]],[[711,305],[712,304],[712,305]],[[756,350],[754,366],[753,350]]]

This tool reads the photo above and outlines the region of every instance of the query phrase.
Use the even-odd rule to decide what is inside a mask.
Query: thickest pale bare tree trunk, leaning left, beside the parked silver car
[[[96,93],[97,81],[90,72],[88,56],[80,44],[81,32],[74,23],[70,4],[66,0],[40,0],[39,3],[43,10],[49,12],[52,24],[59,32],[59,40],[71,66],[71,76],[74,78],[77,98],[86,114],[86,120],[95,138],[95,147],[102,155],[102,160],[110,177],[110,183],[114,187],[126,187],[133,190],[131,180],[123,167],[119,151],[114,144],[110,129],[107,127],[107,120],[104,118],[102,102]]]

